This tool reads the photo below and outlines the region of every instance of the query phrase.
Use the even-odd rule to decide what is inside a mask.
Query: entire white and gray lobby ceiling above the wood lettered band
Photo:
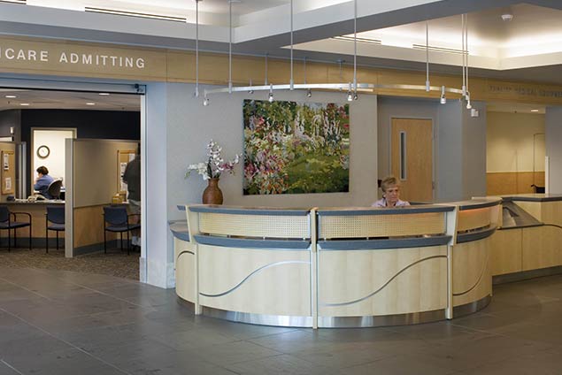
[[[195,0],[27,0],[27,4],[0,3],[0,34],[164,49],[195,47]],[[352,61],[353,43],[331,37],[352,32],[353,4],[350,0],[295,0],[295,57]],[[188,23],[89,13],[83,11],[85,6],[157,14],[175,11],[186,16]],[[228,50],[228,7],[227,0],[199,3],[202,50]],[[242,0],[232,8],[235,53],[289,57],[289,0]],[[357,9],[358,31],[378,35],[383,41],[381,46],[359,45],[361,65],[425,70],[425,51],[404,45],[425,43],[428,20],[430,44],[458,49],[460,14],[467,13],[473,75],[562,84],[560,0],[357,0]],[[511,22],[500,19],[507,11],[514,16]],[[435,73],[458,73],[461,65],[458,54],[431,52],[430,58]]]

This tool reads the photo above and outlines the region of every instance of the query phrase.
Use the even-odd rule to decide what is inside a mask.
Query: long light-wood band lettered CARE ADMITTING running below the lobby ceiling
[[[0,59],[0,73],[24,73],[65,77],[111,78],[114,80],[142,80],[189,82],[196,80],[195,51],[158,50],[150,48],[132,48],[131,46],[111,46],[104,43],[53,41],[41,38],[4,37],[0,38],[4,48],[27,50],[48,50],[49,62],[20,61]],[[59,61],[61,53],[70,51],[81,54],[133,57],[143,59],[142,68],[126,69],[111,65],[64,64]],[[248,85],[250,80],[260,84],[266,77],[264,57],[234,56],[232,60],[233,83],[238,86]],[[274,83],[289,83],[289,60],[269,58],[268,78]],[[459,71],[460,73],[460,71]],[[460,88],[460,74],[432,74],[433,86]],[[359,66],[358,81],[381,85],[404,84],[424,86],[424,72],[396,71],[376,67]],[[199,82],[226,86],[228,80],[228,56],[225,54],[200,53]],[[294,69],[296,83],[304,81],[304,65],[296,64]],[[344,65],[340,71],[335,63],[314,63],[306,65],[306,80],[309,83],[350,82],[353,80],[353,68]],[[562,85],[544,85],[529,82],[514,82],[492,79],[472,78],[470,80],[473,100],[493,100],[519,103],[562,104]],[[425,90],[377,88],[374,94],[389,96],[415,96],[439,98],[440,92]],[[458,95],[448,94],[450,99]]]

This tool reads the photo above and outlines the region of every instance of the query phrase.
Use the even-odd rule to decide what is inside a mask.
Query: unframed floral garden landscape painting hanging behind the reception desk
[[[244,195],[348,192],[350,106],[244,100]]]

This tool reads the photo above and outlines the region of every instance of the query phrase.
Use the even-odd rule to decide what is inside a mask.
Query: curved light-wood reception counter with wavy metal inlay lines
[[[401,325],[491,296],[499,198],[396,209],[195,205],[172,223],[176,292],[196,314],[263,325]]]

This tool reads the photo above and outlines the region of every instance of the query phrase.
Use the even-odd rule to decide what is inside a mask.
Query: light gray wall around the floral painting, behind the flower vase
[[[213,139],[223,147],[223,155],[230,159],[243,153],[243,99],[266,100],[267,93],[216,94],[210,96],[211,105],[202,105],[203,97],[195,98],[195,87],[187,84],[167,85],[167,181],[168,218],[183,218],[177,204],[201,203],[206,186],[199,175],[184,175],[189,164],[204,161],[205,146]],[[203,90],[202,90],[203,91]],[[276,100],[298,102],[347,103],[345,93],[277,92]],[[377,103],[376,96],[360,96],[350,103],[350,192],[314,195],[243,195],[242,163],[235,175],[220,178],[219,188],[224,203],[244,206],[366,206],[376,199],[377,180]]]

